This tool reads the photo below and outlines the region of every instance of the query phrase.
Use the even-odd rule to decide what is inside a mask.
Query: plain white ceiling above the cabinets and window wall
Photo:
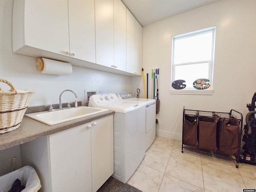
[[[220,0],[122,0],[142,26],[217,1]]]

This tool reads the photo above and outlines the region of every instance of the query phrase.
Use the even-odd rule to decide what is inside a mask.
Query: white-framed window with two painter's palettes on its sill
[[[214,39],[215,27],[172,37],[170,93],[212,94]]]

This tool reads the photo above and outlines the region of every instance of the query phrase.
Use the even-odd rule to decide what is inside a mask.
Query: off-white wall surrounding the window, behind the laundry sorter
[[[181,140],[182,108],[248,112],[256,92],[256,1],[222,0],[143,28],[143,67],[160,68],[157,134]],[[216,26],[213,95],[170,94],[172,36]],[[142,88],[142,83],[140,83]]]

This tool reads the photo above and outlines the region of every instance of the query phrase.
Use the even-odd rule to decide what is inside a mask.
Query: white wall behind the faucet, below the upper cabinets
[[[35,90],[29,106],[56,104],[65,89],[71,92],[62,95],[62,102],[82,101],[84,90],[101,90],[102,93],[132,91],[131,77],[74,66],[70,76],[42,74],[36,70],[36,58],[12,53],[12,5],[13,0],[0,0],[0,78],[10,81],[16,90]],[[0,83],[2,90],[9,86]],[[0,175],[10,169],[11,159],[17,154],[16,165],[20,166],[19,147],[0,153]],[[4,158],[2,158],[4,155]],[[17,166],[16,166],[17,168]]]

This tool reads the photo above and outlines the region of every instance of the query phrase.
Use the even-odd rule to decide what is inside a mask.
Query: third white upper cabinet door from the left
[[[114,64],[113,0],[95,0],[96,64]]]

